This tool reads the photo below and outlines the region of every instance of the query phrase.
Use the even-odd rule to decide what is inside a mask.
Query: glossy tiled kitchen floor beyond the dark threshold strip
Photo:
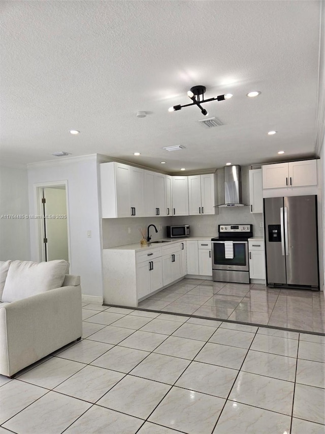
[[[143,309],[325,333],[322,292],[183,279],[139,303]]]

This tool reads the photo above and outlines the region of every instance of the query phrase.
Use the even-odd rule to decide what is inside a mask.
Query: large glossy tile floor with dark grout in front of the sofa
[[[0,375],[0,434],[325,432],[325,336],[90,304],[83,312],[81,341],[12,380]]]

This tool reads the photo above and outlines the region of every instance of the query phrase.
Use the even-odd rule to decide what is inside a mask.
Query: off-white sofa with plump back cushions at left
[[[0,374],[12,377],[80,339],[80,276],[69,263],[0,262]]]

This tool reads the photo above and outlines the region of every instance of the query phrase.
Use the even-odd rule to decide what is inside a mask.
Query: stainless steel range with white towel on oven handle
[[[249,283],[248,238],[252,224],[219,224],[212,238],[212,280]]]

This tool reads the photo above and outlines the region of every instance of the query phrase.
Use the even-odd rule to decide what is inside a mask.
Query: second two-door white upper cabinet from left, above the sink
[[[144,170],[144,214],[166,216],[166,177],[163,173]]]

